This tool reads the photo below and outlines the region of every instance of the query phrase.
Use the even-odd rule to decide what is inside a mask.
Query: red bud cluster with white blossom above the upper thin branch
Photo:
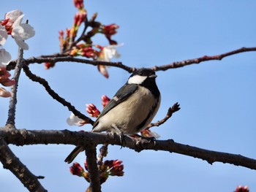
[[[97,21],[97,13],[88,18],[87,11],[84,8],[83,0],[73,0],[78,12],[75,13],[71,28],[66,31],[59,31],[59,42],[61,53],[71,56],[82,56],[91,58],[96,61],[110,62],[111,58],[118,58],[119,54],[116,51],[117,42],[112,39],[117,33],[118,25],[112,23],[103,25]],[[83,28],[81,28],[83,26]],[[78,36],[78,30],[82,33]],[[92,37],[97,34],[104,34],[109,45],[101,46],[94,44]],[[54,64],[45,63],[45,69],[53,67]],[[106,78],[109,77],[105,66],[97,66],[99,72]]]

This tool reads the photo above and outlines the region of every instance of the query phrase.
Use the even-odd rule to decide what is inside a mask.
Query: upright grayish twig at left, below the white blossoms
[[[16,112],[16,104],[17,104],[17,91],[18,91],[18,82],[20,78],[20,72],[23,67],[23,49],[19,48],[18,51],[18,61],[15,66],[15,73],[13,75],[12,80],[15,80],[15,84],[12,85],[12,96],[10,98],[10,105],[9,105],[9,111],[8,111],[8,119],[7,124],[12,125],[12,127],[15,127],[15,112]]]

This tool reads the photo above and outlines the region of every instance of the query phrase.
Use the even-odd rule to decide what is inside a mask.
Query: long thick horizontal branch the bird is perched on
[[[201,158],[209,164],[214,162],[222,162],[234,164],[236,166],[244,166],[249,169],[256,170],[256,160],[246,158],[242,155],[231,153],[222,153],[213,150],[205,150],[198,147],[183,145],[178,142],[169,140],[156,140],[148,142],[148,139],[136,139],[124,136],[125,142],[120,143],[120,138],[116,134],[100,134],[91,132],[76,131],[26,131],[26,130],[1,130],[0,135],[8,144],[14,145],[35,145],[35,144],[71,144],[71,145],[122,145],[129,147],[135,151],[141,150],[163,150],[170,153],[179,153],[189,155],[194,158]]]

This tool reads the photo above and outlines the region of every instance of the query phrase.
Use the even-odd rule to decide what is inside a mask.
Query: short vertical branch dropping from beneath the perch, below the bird
[[[96,145],[86,147],[86,162],[90,176],[91,192],[100,192],[101,185],[99,180],[99,169],[97,166]]]

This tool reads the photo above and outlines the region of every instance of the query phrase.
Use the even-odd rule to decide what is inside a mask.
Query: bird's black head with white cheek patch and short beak
[[[133,72],[133,74],[129,77],[127,83],[141,85],[143,82],[146,81],[155,82],[156,77],[157,75],[152,69],[140,68]]]

